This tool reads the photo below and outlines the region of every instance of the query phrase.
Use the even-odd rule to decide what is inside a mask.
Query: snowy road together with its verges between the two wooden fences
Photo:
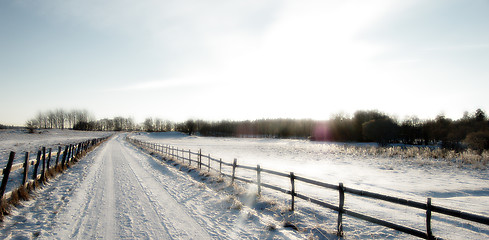
[[[280,219],[233,207],[233,197],[202,182],[206,176],[124,138],[112,137],[13,208],[0,239],[304,238]]]

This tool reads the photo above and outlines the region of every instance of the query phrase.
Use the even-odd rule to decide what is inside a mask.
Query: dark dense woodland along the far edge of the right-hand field
[[[145,128],[145,130],[150,130]],[[310,119],[262,119],[255,121],[187,120],[176,131],[203,136],[308,138],[315,141],[377,142],[440,145],[463,150],[489,149],[489,122],[481,109],[459,120],[439,115],[432,120],[416,117],[396,121],[378,111],[357,111],[353,117],[337,115],[327,121]]]

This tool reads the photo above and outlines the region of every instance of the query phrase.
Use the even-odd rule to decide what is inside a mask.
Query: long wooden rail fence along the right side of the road
[[[294,211],[295,208],[295,198],[303,199],[306,201],[309,201],[311,203],[314,203],[316,205],[332,209],[336,212],[338,212],[338,221],[337,221],[337,234],[342,236],[343,235],[343,215],[349,215],[351,217],[355,217],[358,219],[362,219],[374,224],[378,224],[387,228],[391,228],[397,231],[401,231],[419,238],[424,238],[424,239],[437,239],[431,231],[431,215],[433,212],[439,213],[439,214],[444,214],[448,216],[452,216],[455,218],[460,218],[464,219],[467,221],[471,222],[477,222],[481,223],[484,225],[489,225],[489,217],[478,215],[478,214],[473,214],[469,212],[464,212],[464,211],[459,211],[459,210],[452,210],[449,208],[441,207],[441,206],[435,206],[431,204],[431,198],[428,198],[426,202],[418,202],[418,201],[412,201],[412,200],[407,200],[407,199],[402,199],[402,198],[397,198],[397,197],[392,197],[392,196],[387,196],[379,193],[374,193],[374,192],[369,192],[369,191],[363,191],[363,190],[358,190],[354,188],[349,188],[345,187],[342,183],[339,183],[338,185],[335,184],[329,184],[329,183],[324,183],[320,181],[316,181],[313,179],[301,177],[295,175],[293,172],[290,173],[283,173],[283,172],[278,172],[274,170],[269,170],[269,169],[263,169],[260,167],[260,165],[257,165],[256,167],[252,166],[245,166],[245,165],[238,165],[237,159],[234,159],[233,163],[227,163],[223,162],[222,159],[216,159],[212,158],[209,154],[204,155],[202,154],[202,151],[199,150],[199,152],[192,152],[191,150],[183,150],[183,149],[178,149],[173,146],[168,146],[168,145],[159,145],[155,143],[150,143],[150,142],[144,142],[140,141],[137,139],[133,138],[127,138],[128,141],[132,142],[135,145],[138,145],[140,147],[146,148],[150,151],[158,152],[161,153],[162,155],[168,157],[168,158],[173,158],[178,161],[182,161],[185,164],[185,161],[188,162],[189,165],[192,165],[192,163],[197,164],[197,167],[199,169],[202,169],[202,167],[207,168],[208,171],[215,170],[219,172],[223,176],[227,176],[231,178],[231,182],[234,182],[235,180],[243,181],[246,183],[250,184],[256,184],[258,187],[258,194],[261,193],[261,188],[269,188],[275,191],[282,192],[284,194],[288,194],[291,196],[291,210]],[[205,161],[207,160],[207,161]],[[207,162],[207,164],[206,164]],[[214,162],[214,168],[211,166],[211,162]],[[218,168],[217,168],[217,166]],[[222,167],[231,167],[231,174],[226,174],[223,173]],[[239,177],[236,175],[236,169],[241,168],[241,169],[247,169],[251,171],[256,172],[256,180],[253,179],[248,179],[244,177]],[[283,189],[280,186],[275,186],[267,183],[263,183],[262,180],[262,173],[267,173],[283,178],[288,178],[290,179],[291,183],[291,188],[290,190],[288,189]],[[338,196],[339,196],[339,204],[333,205],[318,199],[314,199],[312,197],[299,194],[296,192],[295,189],[295,183],[296,181],[300,181],[303,183],[327,188],[327,189],[332,189],[338,191]],[[424,230],[419,230],[415,229],[412,227],[408,226],[403,226],[400,224],[392,223],[386,220],[378,219],[372,216],[365,215],[363,213],[355,212],[354,210],[347,209],[345,208],[345,194],[352,194],[356,196],[361,196],[365,198],[370,198],[370,199],[376,199],[376,200],[381,200],[381,201],[386,201],[394,204],[399,204],[411,208],[417,208],[421,210],[426,211],[426,229]]]

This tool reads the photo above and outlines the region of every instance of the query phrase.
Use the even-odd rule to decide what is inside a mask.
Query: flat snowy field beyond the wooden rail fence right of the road
[[[294,172],[295,175],[320,180],[326,183],[344,183],[346,187],[377,192],[394,197],[426,202],[489,216],[489,172],[471,166],[456,166],[443,159],[374,157],[344,151],[344,144],[310,142],[306,140],[283,140],[261,138],[213,138],[186,136],[181,133],[139,133],[132,137],[159,144],[172,145],[185,150],[210,154],[231,163]],[[217,167],[217,166],[216,166]],[[238,176],[254,179],[256,173],[239,170]],[[285,189],[290,188],[288,179],[262,176],[263,182],[273,182]],[[338,202],[338,193],[319,189],[306,184],[298,184],[296,191],[333,204]],[[288,196],[267,191],[272,197],[288,203]],[[297,200],[299,212],[314,215],[316,224],[325,224],[334,230],[336,214]],[[345,207],[362,213],[390,220],[419,230],[425,229],[425,213],[386,202],[346,196]],[[313,224],[314,220],[304,220]],[[324,222],[323,222],[324,221]],[[346,217],[345,234],[352,238],[411,239],[400,234],[361,220]],[[477,223],[433,214],[432,229],[435,236],[445,239],[487,239],[489,227]]]

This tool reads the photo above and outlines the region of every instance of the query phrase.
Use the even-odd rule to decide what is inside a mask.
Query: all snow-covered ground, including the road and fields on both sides
[[[242,185],[248,194],[233,195],[236,189],[219,178],[162,162],[161,156],[145,153],[125,142],[124,137],[111,138],[51,180],[35,199],[14,208],[0,224],[0,239],[336,239],[337,213],[333,211],[297,200],[296,211],[289,212],[290,196],[265,189],[262,197],[255,199],[249,194],[256,191],[253,185]],[[443,160],[374,157],[344,151],[343,144],[305,140],[206,138],[180,133],[131,137],[194,152],[202,149],[202,153],[226,162],[237,158],[238,164],[260,164],[262,168],[293,171],[332,184],[343,182],[347,187],[420,202],[432,197],[434,205],[489,215],[487,170],[453,166]],[[2,139],[7,141],[0,142],[0,149],[8,152],[15,149],[14,142],[28,146],[38,141],[38,146],[44,146],[65,144],[66,138],[31,141],[17,133]],[[256,173],[240,169],[237,174],[254,179]],[[290,187],[288,179],[267,174],[262,175],[262,181]],[[296,191],[338,203],[338,193],[332,190],[296,183]],[[425,228],[421,210],[348,194],[345,207]],[[347,239],[414,238],[348,216],[344,216],[344,224]],[[489,238],[487,226],[436,213],[432,225],[433,233],[444,239]],[[294,227],[299,231],[292,230]]]

